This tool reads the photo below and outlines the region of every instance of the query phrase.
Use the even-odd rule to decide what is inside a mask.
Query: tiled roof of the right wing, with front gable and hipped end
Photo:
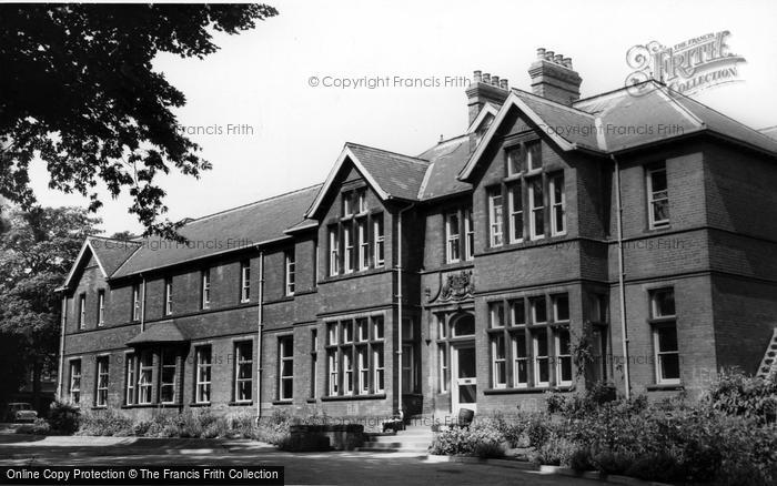
[[[777,141],[705,104],[649,80],[650,89],[635,95],[622,88],[579,100],[567,107],[513,89],[483,141],[460,172],[467,181],[494,134],[511,110],[517,109],[535,129],[546,133],[563,151],[618,153],[655,142],[706,132],[777,155]]]

